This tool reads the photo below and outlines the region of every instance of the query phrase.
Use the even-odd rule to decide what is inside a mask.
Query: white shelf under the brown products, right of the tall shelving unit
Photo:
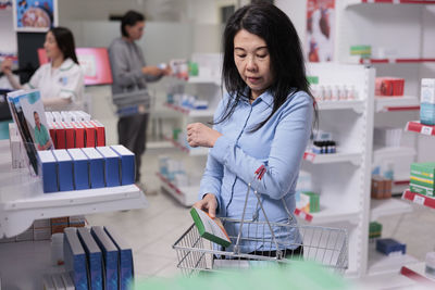
[[[406,214],[412,212],[411,204],[396,200],[396,199],[386,199],[386,200],[375,200],[372,199],[370,202],[371,207],[371,220],[376,220],[381,216],[396,215],[396,214]]]

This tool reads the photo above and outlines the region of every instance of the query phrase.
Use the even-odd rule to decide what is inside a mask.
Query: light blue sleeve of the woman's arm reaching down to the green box
[[[220,104],[217,105],[217,109],[214,113],[214,122],[221,116],[223,110],[223,100],[221,100]],[[220,126],[219,124],[213,126],[213,129],[220,131]],[[213,157],[210,153],[207,157],[207,164],[206,164],[206,169],[202,175],[202,179],[200,182],[199,187],[199,199],[202,199],[204,194],[207,193],[213,193],[216,197],[217,200],[217,213],[219,209],[221,207],[221,186],[222,186],[222,178],[223,178],[223,165],[222,163]]]

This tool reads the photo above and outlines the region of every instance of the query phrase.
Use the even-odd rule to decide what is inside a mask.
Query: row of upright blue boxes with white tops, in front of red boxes
[[[44,192],[132,185],[135,155],[123,146],[38,151]]]

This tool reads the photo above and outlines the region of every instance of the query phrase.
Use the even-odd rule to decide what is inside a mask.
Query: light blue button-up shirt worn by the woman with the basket
[[[214,121],[225,111],[228,102],[226,94],[220,102]],[[221,136],[210,149],[207,166],[200,184],[199,199],[206,193],[213,193],[217,199],[217,216],[240,219],[245,204],[248,184],[252,181],[254,172],[264,165],[266,173],[261,180],[252,182],[252,187],[261,194],[268,218],[274,223],[287,223],[288,215],[284,209],[286,203],[290,213],[295,211],[295,187],[300,163],[311,133],[313,118],[312,98],[303,91],[289,96],[287,101],[273,114],[260,129],[250,129],[264,121],[272,112],[273,96],[265,91],[252,104],[240,101],[233,115],[223,123],[214,125]],[[257,198],[250,192],[246,210],[246,218],[264,220],[258,210]],[[296,219],[293,218],[293,224]],[[225,225],[228,235],[236,236],[237,225]],[[264,231],[265,230],[265,231]],[[249,238],[270,239],[269,229],[259,232],[244,226],[243,236]],[[300,242],[299,232],[295,229],[274,229],[277,237]],[[288,243],[288,241],[286,242]],[[294,247],[283,247],[295,249]],[[231,249],[229,249],[231,250]],[[271,251],[274,247],[262,242],[247,241],[243,252]]]

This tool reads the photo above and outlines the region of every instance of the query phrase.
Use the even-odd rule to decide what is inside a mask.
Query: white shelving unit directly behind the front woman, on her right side
[[[301,169],[312,174],[313,190],[320,193],[320,212],[299,216],[311,219],[311,224],[347,228],[349,268],[346,275],[361,276],[368,261],[369,218],[365,216],[370,211],[374,70],[310,63],[307,72],[319,77],[319,84],[355,87],[358,99],[319,103],[319,128],[333,134],[337,153],[306,152]]]

